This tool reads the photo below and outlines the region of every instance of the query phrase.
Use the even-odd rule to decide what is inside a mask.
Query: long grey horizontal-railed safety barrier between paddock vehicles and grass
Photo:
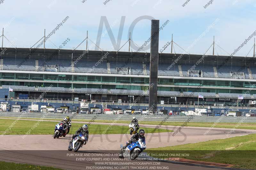
[[[0,112],[0,117],[13,118],[37,118],[37,119],[61,119],[70,116],[72,119],[90,120],[118,120],[131,121],[135,116],[139,121],[158,121],[158,122],[256,122],[256,117],[230,117],[230,116],[167,116],[167,115],[92,115],[92,114],[48,114],[48,113],[13,113]]]

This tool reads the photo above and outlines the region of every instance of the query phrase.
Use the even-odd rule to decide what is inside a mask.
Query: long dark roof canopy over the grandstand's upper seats
[[[4,48],[3,48],[4,49]],[[10,57],[10,58],[33,58],[33,59],[44,59],[44,49],[43,48],[5,48],[5,52],[1,57]],[[72,50],[72,49],[45,49],[45,59],[52,56],[53,59],[70,59],[75,61],[80,55],[83,54],[85,50]],[[136,52],[122,52],[119,51],[86,51],[86,54],[82,56],[82,60],[95,60],[98,61],[102,58],[105,53],[109,53],[104,59],[105,61],[130,61],[132,62],[149,62],[150,53],[148,52],[139,52],[134,55]],[[55,53],[55,55],[53,55]],[[73,54],[73,55],[72,55]],[[134,55],[134,56],[132,56]],[[172,63],[180,55],[182,58],[179,60],[179,63],[188,63],[191,64],[198,61],[203,55],[195,54],[170,54],[170,53],[159,53],[159,63]],[[208,55],[204,57],[204,62],[225,62],[229,56],[225,55]],[[252,57],[243,57],[243,56],[233,56],[228,59],[228,63],[240,63],[244,64],[247,60]],[[254,57],[253,57],[254,58]]]

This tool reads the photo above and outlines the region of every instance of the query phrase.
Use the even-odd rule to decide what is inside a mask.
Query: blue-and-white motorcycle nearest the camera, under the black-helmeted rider
[[[125,150],[123,150],[123,144],[121,144],[121,152],[119,153],[119,158],[129,158],[135,160],[139,154],[146,149],[145,139],[139,138],[137,142],[132,142],[128,145]]]

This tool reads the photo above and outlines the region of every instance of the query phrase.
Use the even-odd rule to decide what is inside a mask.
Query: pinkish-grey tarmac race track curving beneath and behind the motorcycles
[[[35,120],[36,121],[36,120]],[[54,121],[56,122],[56,121]],[[79,122],[77,122],[79,123]],[[84,122],[81,122],[84,123]],[[93,124],[111,124],[96,123]],[[124,123],[115,123],[115,125],[126,125]],[[156,125],[140,125],[143,127],[155,128]],[[163,129],[176,130],[179,126],[162,126]],[[128,129],[128,128],[127,128]],[[146,134],[147,148],[156,148],[164,146],[174,146],[180,144],[203,142],[214,139],[227,138],[226,134],[231,129],[214,128],[207,135],[203,135],[209,128],[203,127],[183,127],[181,132],[174,137],[173,132]],[[256,133],[256,130],[236,129],[228,137],[236,137]],[[131,135],[112,134],[112,135],[90,135],[88,143],[80,148],[79,153],[113,153],[120,149],[120,144],[125,144]],[[66,152],[71,135],[53,139],[52,135],[28,135],[24,139],[22,135],[6,135],[0,137],[0,161],[29,163],[43,166],[54,166],[64,169],[86,169],[86,166],[95,166],[93,161],[76,161],[60,152]],[[39,150],[38,154],[29,151]],[[48,150],[49,152],[44,152]],[[51,152],[50,152],[51,151]],[[78,153],[77,152],[77,153]],[[74,153],[68,152],[67,153]],[[161,166],[169,166],[169,169],[177,170],[210,170],[213,166],[198,166],[196,164],[185,164],[177,162],[161,162]],[[227,169],[220,168],[219,169]]]

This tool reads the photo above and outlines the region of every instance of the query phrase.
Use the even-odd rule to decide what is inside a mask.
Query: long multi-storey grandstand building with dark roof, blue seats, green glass
[[[150,54],[5,48],[0,85],[15,97],[148,103]],[[179,60],[177,58],[179,57]],[[159,54],[158,102],[248,106],[256,97],[254,57]],[[10,96],[9,96],[10,97]],[[250,103],[249,103],[250,102]]]

